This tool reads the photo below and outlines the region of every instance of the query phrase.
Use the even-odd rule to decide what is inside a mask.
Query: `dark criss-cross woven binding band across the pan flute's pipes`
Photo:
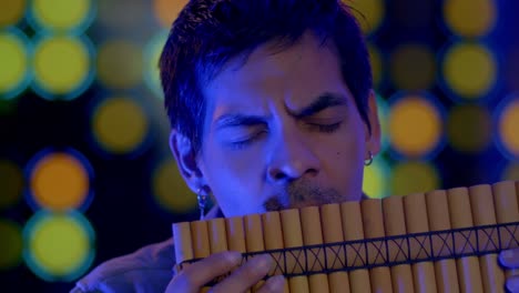
[[[426,233],[325,243],[301,247],[243,253],[243,262],[256,254],[269,253],[276,263],[273,275],[287,277],[393,266],[444,259],[481,256],[519,246],[519,222],[451,229]],[[407,247],[407,249],[405,249]],[[385,252],[385,253],[384,253]],[[332,255],[329,255],[332,254]],[[348,255],[354,255],[353,257]],[[314,256],[314,257],[308,257]],[[323,257],[324,256],[324,257]],[[319,259],[322,261],[319,261]],[[334,260],[328,263],[327,260]],[[293,260],[294,265],[287,266]],[[313,262],[308,262],[312,260]],[[180,264],[193,263],[199,259]],[[337,267],[338,264],[338,267]],[[335,267],[335,269],[333,269]]]

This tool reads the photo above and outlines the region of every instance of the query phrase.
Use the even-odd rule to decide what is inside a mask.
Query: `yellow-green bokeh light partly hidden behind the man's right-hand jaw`
[[[389,194],[390,168],[383,156],[375,156],[372,165],[364,168],[363,191],[370,199],[384,199]]]

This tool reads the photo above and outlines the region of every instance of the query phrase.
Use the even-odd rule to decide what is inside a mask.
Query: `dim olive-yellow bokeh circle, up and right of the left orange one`
[[[104,152],[135,153],[149,145],[150,118],[134,99],[113,97],[92,111],[92,135]]]

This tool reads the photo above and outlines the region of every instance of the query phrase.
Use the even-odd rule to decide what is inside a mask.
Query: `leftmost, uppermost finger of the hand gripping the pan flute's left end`
[[[228,273],[240,265],[242,254],[238,252],[220,252],[195,262],[180,272],[167,286],[166,292],[199,292],[213,279]]]

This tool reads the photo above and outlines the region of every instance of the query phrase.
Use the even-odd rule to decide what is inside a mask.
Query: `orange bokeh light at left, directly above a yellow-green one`
[[[38,153],[28,165],[28,201],[34,210],[84,211],[93,196],[92,166],[73,150]]]

